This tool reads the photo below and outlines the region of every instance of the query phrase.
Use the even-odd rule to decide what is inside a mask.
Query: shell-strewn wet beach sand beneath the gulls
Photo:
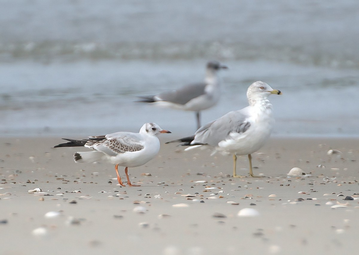
[[[158,157],[129,169],[141,187],[118,186],[111,164],[75,164],[81,149],[51,148],[60,142],[1,139],[1,254],[358,251],[358,139],[271,138],[252,155],[258,178],[232,178],[231,156],[161,144]],[[245,175],[247,157],[237,162]],[[293,167],[307,175],[288,177]],[[237,216],[243,208],[259,216]]]

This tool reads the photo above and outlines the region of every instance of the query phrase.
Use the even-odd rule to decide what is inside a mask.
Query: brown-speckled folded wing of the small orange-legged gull
[[[139,151],[144,148],[143,142],[140,140],[139,136],[131,132],[108,134],[105,136],[105,139],[86,143],[85,146],[101,151],[109,156],[116,156],[127,151]]]

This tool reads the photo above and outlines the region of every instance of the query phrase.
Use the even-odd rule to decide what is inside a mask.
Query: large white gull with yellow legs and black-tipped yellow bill
[[[219,119],[200,127],[195,135],[169,141],[183,142],[180,145],[210,145],[214,152],[222,151],[233,154],[233,177],[236,173],[237,155],[248,155],[249,174],[252,177],[252,156],[269,138],[274,124],[272,105],[268,100],[270,94],[281,95],[280,90],[272,89],[267,83],[257,81],[247,90],[249,106],[230,111]]]

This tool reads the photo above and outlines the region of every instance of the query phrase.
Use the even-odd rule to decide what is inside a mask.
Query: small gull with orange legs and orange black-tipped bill
[[[57,147],[85,146],[93,151],[82,151],[74,153],[76,163],[92,163],[104,161],[115,165],[117,181],[123,184],[118,174],[118,166],[125,167],[127,184],[129,186],[140,186],[130,182],[127,169],[146,164],[153,159],[160,148],[157,135],[160,133],[171,133],[171,131],[161,129],[155,123],[145,123],[139,133],[117,132],[108,135],[89,136],[89,139],[75,140],[67,139],[69,142],[55,145]]]

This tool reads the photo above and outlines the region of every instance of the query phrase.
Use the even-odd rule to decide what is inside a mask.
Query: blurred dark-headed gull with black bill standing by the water
[[[194,83],[178,90],[162,92],[153,96],[140,96],[143,98],[137,102],[155,103],[164,107],[171,107],[185,111],[195,111],[197,129],[200,128],[200,111],[206,110],[217,104],[220,97],[221,78],[218,71],[228,68],[218,61],[207,63],[204,82]]]

